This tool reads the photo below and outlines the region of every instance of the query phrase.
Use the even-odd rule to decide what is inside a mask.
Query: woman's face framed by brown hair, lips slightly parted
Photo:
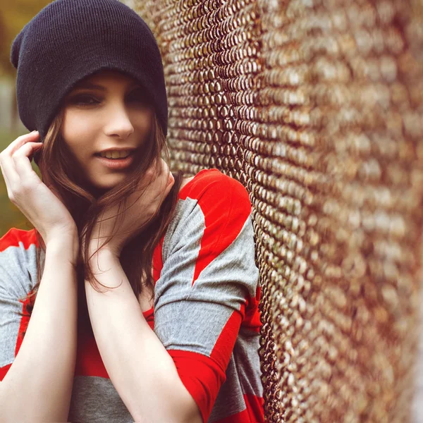
[[[124,73],[104,70],[78,82],[63,107],[63,140],[88,185],[102,192],[121,183],[132,166],[114,166],[131,159],[103,159],[99,152],[142,148],[153,117],[142,86]]]

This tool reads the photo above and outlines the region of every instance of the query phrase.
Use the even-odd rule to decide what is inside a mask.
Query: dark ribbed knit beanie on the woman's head
[[[63,97],[82,78],[104,68],[122,71],[145,87],[167,134],[164,71],[147,24],[118,0],[56,0],[16,36],[11,63],[18,69],[19,116],[40,142]]]

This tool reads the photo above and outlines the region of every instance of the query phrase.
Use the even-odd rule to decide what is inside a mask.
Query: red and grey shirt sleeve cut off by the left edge
[[[35,285],[35,238],[31,231],[11,228],[0,238],[0,381],[15,360],[29,318],[25,298]],[[34,283],[32,283],[34,281]]]

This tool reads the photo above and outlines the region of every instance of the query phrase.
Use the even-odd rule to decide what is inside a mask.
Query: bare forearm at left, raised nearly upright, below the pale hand
[[[0,422],[66,422],[77,341],[76,240],[47,244],[23,343],[0,383]]]

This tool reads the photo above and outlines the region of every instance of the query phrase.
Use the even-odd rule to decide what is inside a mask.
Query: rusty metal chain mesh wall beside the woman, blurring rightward
[[[422,2],[125,3],[163,54],[173,170],[250,192],[266,421],[410,421]]]

